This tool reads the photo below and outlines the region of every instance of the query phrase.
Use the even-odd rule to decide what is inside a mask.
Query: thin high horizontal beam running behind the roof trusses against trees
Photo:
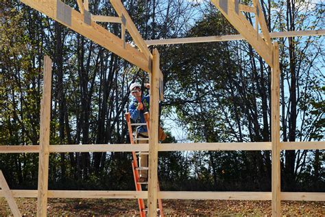
[[[270,32],[271,38],[286,38],[297,36],[322,36],[325,30],[306,30],[306,31],[289,31],[289,32]],[[263,38],[263,34],[260,34]],[[219,41],[235,41],[245,40],[241,34],[225,35],[225,36],[205,36],[205,37],[189,37],[189,38],[169,38],[169,39],[156,39],[147,40],[147,45],[176,45],[176,44],[189,44],[189,43],[208,43]]]

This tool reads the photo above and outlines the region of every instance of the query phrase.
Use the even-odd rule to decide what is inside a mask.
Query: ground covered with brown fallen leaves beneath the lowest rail
[[[24,216],[36,215],[36,198],[16,198]],[[287,216],[325,216],[325,202],[282,201],[282,214]],[[195,201],[164,200],[164,213],[171,216],[271,216],[271,201]],[[138,215],[136,200],[49,198],[49,216],[133,216]],[[0,198],[0,216],[10,215],[5,198]]]

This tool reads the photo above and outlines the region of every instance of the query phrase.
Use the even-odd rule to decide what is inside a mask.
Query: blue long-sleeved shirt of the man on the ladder
[[[130,107],[129,107],[131,118],[136,123],[145,123],[145,116],[143,115],[143,113],[149,111],[149,103],[150,103],[149,95],[144,96],[142,98],[141,102],[144,106],[143,110],[141,110],[141,111],[136,109],[136,107],[138,107],[139,102],[135,98],[132,100],[132,103],[130,104]],[[147,126],[139,127],[138,132],[139,133],[147,132]]]

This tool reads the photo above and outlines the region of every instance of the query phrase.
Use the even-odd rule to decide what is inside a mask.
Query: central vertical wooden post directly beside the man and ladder
[[[150,75],[148,216],[157,216],[159,72],[159,53],[154,49]]]

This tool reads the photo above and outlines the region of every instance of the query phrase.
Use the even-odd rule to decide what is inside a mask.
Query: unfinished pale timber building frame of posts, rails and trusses
[[[76,0],[79,8],[73,10],[60,0],[21,0],[23,3],[46,14],[52,19],[66,25],[75,32],[91,39],[121,58],[147,71],[150,76],[150,129],[148,144],[97,144],[97,145],[49,145],[49,122],[51,111],[51,60],[44,59],[44,87],[40,112],[39,146],[0,146],[0,153],[38,152],[38,190],[9,190],[3,185],[0,172],[0,196],[8,201],[13,197],[37,197],[38,216],[47,216],[47,198],[147,198],[148,215],[156,216],[157,198],[171,199],[221,199],[221,200],[271,200],[272,216],[280,216],[280,201],[325,201],[325,193],[281,192],[280,191],[280,150],[325,149],[325,141],[280,142],[280,69],[278,44],[272,44],[264,20],[261,5],[253,0],[254,6],[242,5],[238,0],[211,0],[222,14],[239,31],[241,37],[254,47],[265,62],[272,68],[272,141],[256,143],[193,143],[193,144],[158,144],[158,109],[159,100],[163,99],[160,57],[157,49],[153,54],[147,43],[136,29],[128,12],[120,0],[110,0],[118,16],[92,15],[88,0]],[[255,28],[245,19],[241,12],[251,12],[256,16]],[[121,38],[115,36],[96,22],[121,24]],[[262,34],[258,33],[258,25]],[[125,31],[132,36],[135,48],[125,41]],[[323,32],[324,34],[324,32]],[[270,36],[271,35],[271,36]],[[229,39],[229,38],[228,38]],[[238,38],[234,38],[238,40]],[[178,150],[272,150],[272,192],[159,192],[158,152]],[[149,151],[149,182],[147,192],[136,191],[61,191],[48,190],[49,154],[51,152],[132,152]],[[3,187],[4,186],[4,187]],[[16,212],[14,205],[10,205]],[[19,215],[19,212],[16,212]],[[15,214],[14,214],[15,215]]]

